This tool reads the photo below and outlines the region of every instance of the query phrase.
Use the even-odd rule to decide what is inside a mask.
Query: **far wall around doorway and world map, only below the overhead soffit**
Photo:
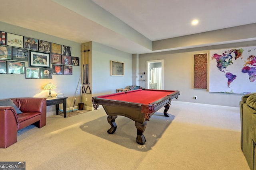
[[[213,49],[246,47],[254,45],[256,45],[256,41],[216,45],[210,47],[200,47],[196,49],[184,49],[160,53],[142,54],[139,55],[139,72],[140,74],[142,72],[147,72],[146,61],[163,59],[164,89],[179,90],[180,96],[178,98],[178,101],[239,107],[239,102],[241,100],[241,97],[243,96],[242,94],[212,93],[208,92],[208,90],[193,89],[194,54],[209,54],[209,51]],[[146,78],[146,76],[144,76],[144,78]],[[142,81],[140,81],[140,86],[142,86]],[[144,83],[144,88],[145,87],[146,86]],[[197,96],[196,100],[193,98],[194,95]]]

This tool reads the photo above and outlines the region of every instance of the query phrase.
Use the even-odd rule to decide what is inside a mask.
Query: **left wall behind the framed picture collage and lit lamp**
[[[60,39],[58,37],[3,22],[0,22],[0,30],[60,45],[67,45],[71,47],[73,57],[81,57],[80,43]],[[28,62],[25,62],[25,67],[28,67]],[[56,93],[64,93],[64,95],[68,97],[67,110],[70,110],[74,105],[74,95],[80,77],[80,70],[81,66],[73,66],[73,75],[52,75],[52,79],[26,79],[25,74],[0,74],[0,99],[46,97],[49,94],[49,90],[44,90],[43,87],[45,84],[51,82],[56,85],[56,89],[51,90],[52,96],[56,96]],[[78,96],[80,96],[80,91],[78,92]],[[80,99],[80,97],[78,97],[78,99]],[[75,109],[79,102],[80,100],[76,100]],[[62,106],[60,106],[60,108],[62,109]],[[55,106],[47,106],[47,116],[54,114],[56,114]]]

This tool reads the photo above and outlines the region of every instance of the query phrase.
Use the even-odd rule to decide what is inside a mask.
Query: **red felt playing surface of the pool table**
[[[177,92],[177,91],[139,89],[139,90],[132,90],[132,91],[128,91],[128,92],[107,94],[104,96],[98,96],[98,98],[124,101],[124,102],[134,102],[134,103],[140,103],[140,104],[151,104],[157,100],[160,100],[164,96],[172,95],[175,92]]]

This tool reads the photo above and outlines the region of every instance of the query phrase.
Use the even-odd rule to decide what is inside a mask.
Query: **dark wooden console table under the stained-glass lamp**
[[[55,105],[55,107],[56,107],[56,115],[59,114],[59,104],[62,104],[62,103],[63,103],[63,114],[64,114],[64,117],[67,117],[67,97],[63,97],[63,98],[56,98],[56,97],[46,98],[46,106]]]

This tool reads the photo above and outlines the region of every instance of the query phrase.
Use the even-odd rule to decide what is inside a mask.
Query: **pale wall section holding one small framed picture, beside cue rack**
[[[110,61],[124,63],[123,76],[110,75]],[[92,96],[115,93],[132,85],[132,55],[92,42]]]

